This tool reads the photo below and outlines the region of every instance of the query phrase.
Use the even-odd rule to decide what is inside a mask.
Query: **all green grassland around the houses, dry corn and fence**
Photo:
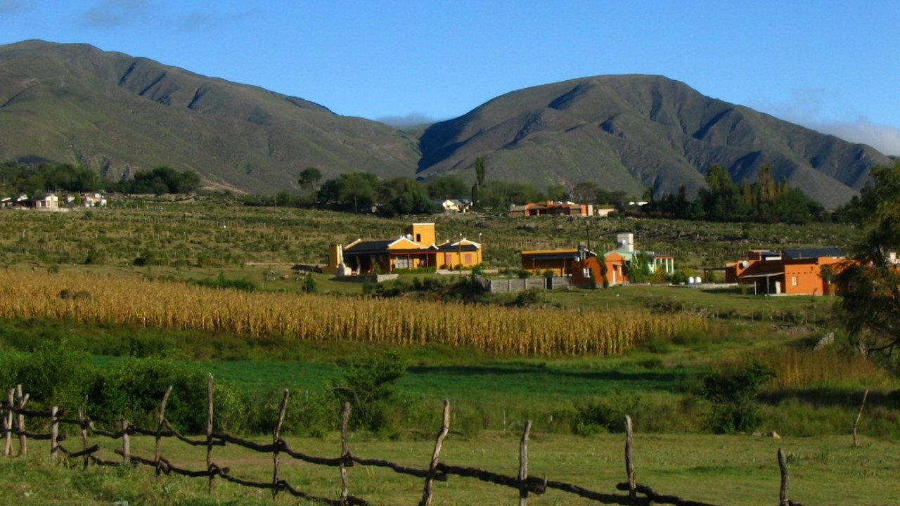
[[[383,220],[336,212],[245,208],[233,202],[141,203],[65,215],[0,212],[0,264],[8,269],[91,272],[123,284],[139,277],[179,283],[223,276],[252,282],[262,291],[300,293],[305,273],[293,267],[323,262],[329,243],[346,244],[356,237],[390,238],[409,221],[423,220],[437,221],[438,233],[446,234],[443,237],[481,232],[489,267],[501,269],[517,268],[517,249],[571,248],[588,239],[588,233],[592,248],[602,251],[612,248],[617,231],[635,231],[639,248],[671,253],[679,268],[698,273],[705,267],[723,267],[748,249],[846,247],[853,234],[850,227],[833,224],[794,227],[632,218],[590,221],[589,232],[586,222],[563,218],[527,221],[529,226],[523,227],[522,220],[491,216]],[[143,265],[136,265],[139,258]],[[356,297],[363,291],[360,284],[312,276],[320,293]],[[412,277],[403,279],[409,282]],[[483,305],[484,311],[514,298],[496,297]],[[383,300],[391,303],[391,299]],[[599,402],[616,416],[621,411],[635,418],[638,481],[658,492],[722,505],[776,503],[775,455],[782,447],[788,454],[794,501],[898,504],[900,489],[893,485],[900,472],[896,360],[863,364],[844,353],[848,346],[840,322],[833,321],[833,302],[830,297],[763,297],[734,287],[667,285],[554,291],[529,302],[586,312],[628,308],[695,312],[709,322],[707,331],[672,339],[650,336],[637,348],[612,357],[495,356],[467,348],[379,347],[347,343],[339,337],[317,343],[279,336],[249,342],[223,332],[39,320],[0,321],[0,356],[66,340],[90,354],[95,366],[116,370],[130,363],[126,357],[160,353],[212,374],[217,385],[246,393],[256,404],[247,406],[247,411],[268,416],[284,388],[292,393],[292,409],[306,409],[328,393],[332,381],[346,374],[349,363],[392,351],[407,366],[407,374],[396,384],[400,414],[392,420],[391,430],[354,432],[351,449],[361,456],[427,465],[441,402],[447,398],[454,411],[452,434],[443,454],[446,462],[516,474],[520,430],[526,420],[534,420],[531,474],[614,492],[625,475],[623,435],[608,434],[606,429],[590,436],[573,435],[579,408]],[[836,343],[825,352],[812,352],[811,344],[830,332],[835,332]],[[711,371],[752,360],[765,362],[778,375],[762,387],[760,431],[775,430],[783,438],[712,434],[704,421],[709,407],[698,398],[698,384]],[[871,388],[871,395],[860,421],[861,444],[852,447],[851,424],[866,388]],[[39,405],[41,401],[32,402]],[[315,455],[338,455],[333,431],[320,438],[302,437],[298,420],[289,417],[286,427],[293,447]],[[261,433],[257,430],[253,437],[265,441]],[[268,492],[229,483],[216,483],[214,493],[207,496],[202,480],[157,479],[148,468],[82,471],[77,465],[50,463],[45,444],[33,442],[34,451],[27,458],[0,458],[0,503],[273,502]],[[134,438],[133,444],[139,455],[152,453],[147,438]],[[112,447],[103,450],[107,458],[114,458]],[[164,453],[192,468],[205,465],[201,449],[166,442]],[[248,478],[265,480],[271,472],[270,456],[255,456],[237,447],[217,447],[214,460]],[[337,497],[335,469],[289,463],[284,473],[304,491]],[[420,480],[383,469],[356,466],[350,470],[351,493],[374,504],[416,503],[421,487]],[[452,478],[449,483],[437,483],[435,503],[508,503],[517,495],[473,479]],[[528,502],[589,503],[553,491],[532,496]],[[295,501],[283,495],[276,503]]]

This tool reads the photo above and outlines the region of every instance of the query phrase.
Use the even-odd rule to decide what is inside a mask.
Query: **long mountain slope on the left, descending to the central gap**
[[[417,140],[255,86],[83,44],[0,46],[0,159],[48,158],[120,177],[168,165],[207,185],[273,193],[328,178],[414,173]]]

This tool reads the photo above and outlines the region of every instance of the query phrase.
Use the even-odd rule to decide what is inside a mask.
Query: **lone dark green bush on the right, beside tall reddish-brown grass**
[[[756,401],[760,389],[774,373],[759,361],[727,366],[703,378],[700,395],[712,404],[709,426],[716,432],[750,432],[762,423]]]

